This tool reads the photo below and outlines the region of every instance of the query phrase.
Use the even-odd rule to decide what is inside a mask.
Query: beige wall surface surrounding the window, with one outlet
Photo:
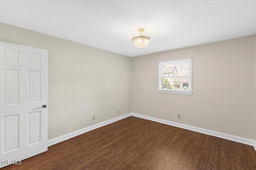
[[[254,139],[254,48],[251,35],[133,57],[132,112]],[[193,95],[158,93],[158,61],[188,57]]]

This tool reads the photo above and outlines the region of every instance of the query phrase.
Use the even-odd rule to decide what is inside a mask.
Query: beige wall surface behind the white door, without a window
[[[48,139],[130,113],[130,57],[4,23],[0,41],[49,50]]]

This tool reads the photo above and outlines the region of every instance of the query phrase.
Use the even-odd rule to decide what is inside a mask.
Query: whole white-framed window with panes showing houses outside
[[[158,62],[158,92],[192,94],[192,58]]]

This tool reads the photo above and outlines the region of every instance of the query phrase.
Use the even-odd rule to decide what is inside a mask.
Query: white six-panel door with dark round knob
[[[46,151],[47,141],[48,50],[0,42],[0,167]]]

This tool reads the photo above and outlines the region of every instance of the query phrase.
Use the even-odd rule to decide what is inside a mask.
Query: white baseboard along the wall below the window
[[[221,133],[221,132],[216,132],[216,131],[211,131],[211,130],[203,129],[203,128],[200,128],[200,127],[184,125],[184,124],[176,123],[176,122],[173,122],[173,121],[168,121],[168,120],[164,120],[164,119],[158,119],[158,118],[155,118],[155,117],[140,115],[140,114],[137,114],[137,113],[131,113],[131,115],[134,116],[134,117],[140,117],[142,119],[156,121],[158,123],[164,123],[166,125],[180,127],[182,129],[187,129],[187,130],[190,130],[190,131],[195,131],[195,132],[203,133],[203,134],[206,134],[206,135],[211,135],[211,136],[219,137],[219,138],[222,138],[222,139],[227,139],[227,140],[230,140],[230,141],[244,143],[246,145],[253,146],[254,149],[256,150],[256,141],[252,140],[252,139],[248,139],[248,138],[244,138],[244,137],[238,137],[238,136],[229,135],[229,134],[226,134],[226,133]]]

